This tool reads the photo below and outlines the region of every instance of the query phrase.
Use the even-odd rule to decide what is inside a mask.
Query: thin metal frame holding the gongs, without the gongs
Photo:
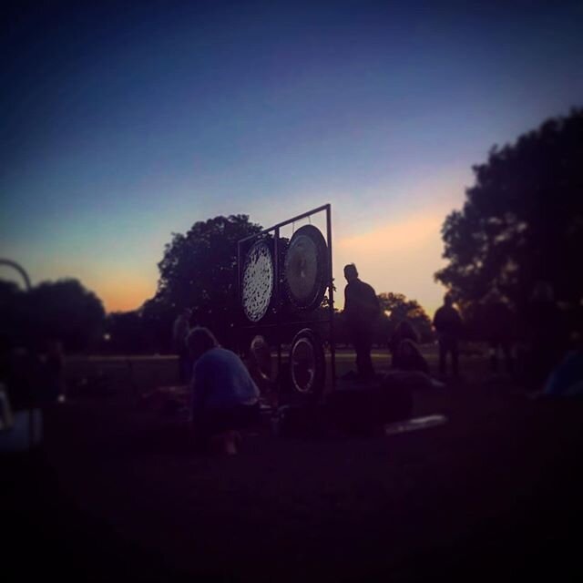
[[[327,273],[327,283],[326,283],[326,291],[328,292],[328,307],[326,309],[327,317],[322,320],[311,320],[307,316],[312,312],[307,313],[296,313],[294,314],[296,317],[290,318],[286,317],[288,314],[281,311],[279,306],[281,306],[281,270],[283,268],[281,263],[280,257],[280,230],[282,227],[286,227],[288,225],[292,225],[292,223],[302,220],[302,219],[309,219],[313,215],[318,213],[326,213],[326,245],[328,247],[328,273]],[[238,343],[239,343],[239,351],[241,352],[240,346],[240,339],[243,335],[241,332],[251,332],[255,331],[257,333],[268,333],[276,330],[278,333],[275,334],[277,338],[277,369],[278,374],[281,371],[281,338],[283,336],[290,336],[289,342],[292,342],[292,338],[295,334],[294,330],[298,329],[298,326],[302,327],[311,327],[314,324],[324,324],[327,325],[328,333],[326,334],[325,340],[328,340],[330,344],[330,368],[331,368],[331,376],[332,376],[332,391],[336,388],[336,348],[334,343],[334,286],[333,286],[333,278],[332,278],[332,205],[330,203],[324,204],[321,207],[317,207],[312,210],[307,210],[306,212],[302,212],[302,214],[296,215],[292,217],[292,219],[282,220],[277,224],[268,227],[267,229],[263,229],[254,235],[250,235],[249,237],[245,237],[237,241],[237,299],[239,302],[239,306],[241,307],[241,270],[242,265],[245,260],[243,247],[249,246],[256,241],[260,240],[261,237],[265,235],[272,235],[273,236],[273,275],[274,275],[274,286],[273,286],[273,297],[271,301],[276,306],[275,312],[271,314],[270,318],[266,318],[264,316],[259,322],[249,322],[248,320],[243,323],[244,315],[241,314],[241,323],[237,326],[239,328],[240,333],[237,334],[238,336]],[[324,292],[325,293],[325,292]],[[242,310],[241,310],[242,312]],[[263,320],[267,320],[266,322],[262,322]],[[312,324],[312,325],[311,325]],[[291,332],[287,332],[287,330],[291,330]],[[281,387],[278,387],[280,390]],[[322,393],[323,394],[323,393]]]

